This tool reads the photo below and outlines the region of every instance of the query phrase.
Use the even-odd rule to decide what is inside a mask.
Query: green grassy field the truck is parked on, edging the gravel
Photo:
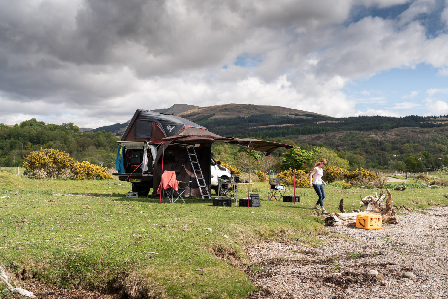
[[[302,202],[280,202],[279,212],[267,200],[267,183],[254,184],[259,208],[129,199],[131,185],[125,183],[101,206],[119,184],[36,180],[0,169],[0,197],[9,196],[0,199],[0,265],[23,279],[130,298],[244,298],[255,290],[246,272],[257,269],[244,246],[289,239],[316,247],[316,236],[328,234],[312,209],[312,189],[296,189]],[[351,211],[360,195],[375,191],[327,187],[327,211],[336,212],[341,198]],[[393,199],[401,208],[423,209],[447,205],[446,194],[446,188],[407,189],[395,191]]]

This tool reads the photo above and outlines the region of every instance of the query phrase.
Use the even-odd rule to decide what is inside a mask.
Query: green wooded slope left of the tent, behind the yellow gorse
[[[81,133],[73,123],[46,125],[33,118],[15,126],[0,124],[0,166],[21,166],[27,154],[48,147],[67,152],[77,161],[114,167],[117,140],[111,132]]]

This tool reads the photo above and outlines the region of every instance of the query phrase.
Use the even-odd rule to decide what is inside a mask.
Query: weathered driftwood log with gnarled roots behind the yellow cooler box
[[[375,214],[381,215],[383,217],[383,223],[392,223],[396,224],[396,211],[393,206],[392,194],[388,188],[386,188],[386,192],[388,193],[388,199],[386,200],[386,204],[383,204],[383,200],[386,199],[386,195],[384,192],[381,192],[379,195],[375,192],[375,197],[372,195],[367,195],[362,198],[361,196],[361,207],[365,206],[366,211],[361,212],[360,214]],[[339,202],[339,210],[341,213],[332,213],[327,215],[325,219],[325,225],[329,226],[354,226],[356,225],[356,215],[358,213],[347,213],[344,209],[344,199],[341,199]]]

